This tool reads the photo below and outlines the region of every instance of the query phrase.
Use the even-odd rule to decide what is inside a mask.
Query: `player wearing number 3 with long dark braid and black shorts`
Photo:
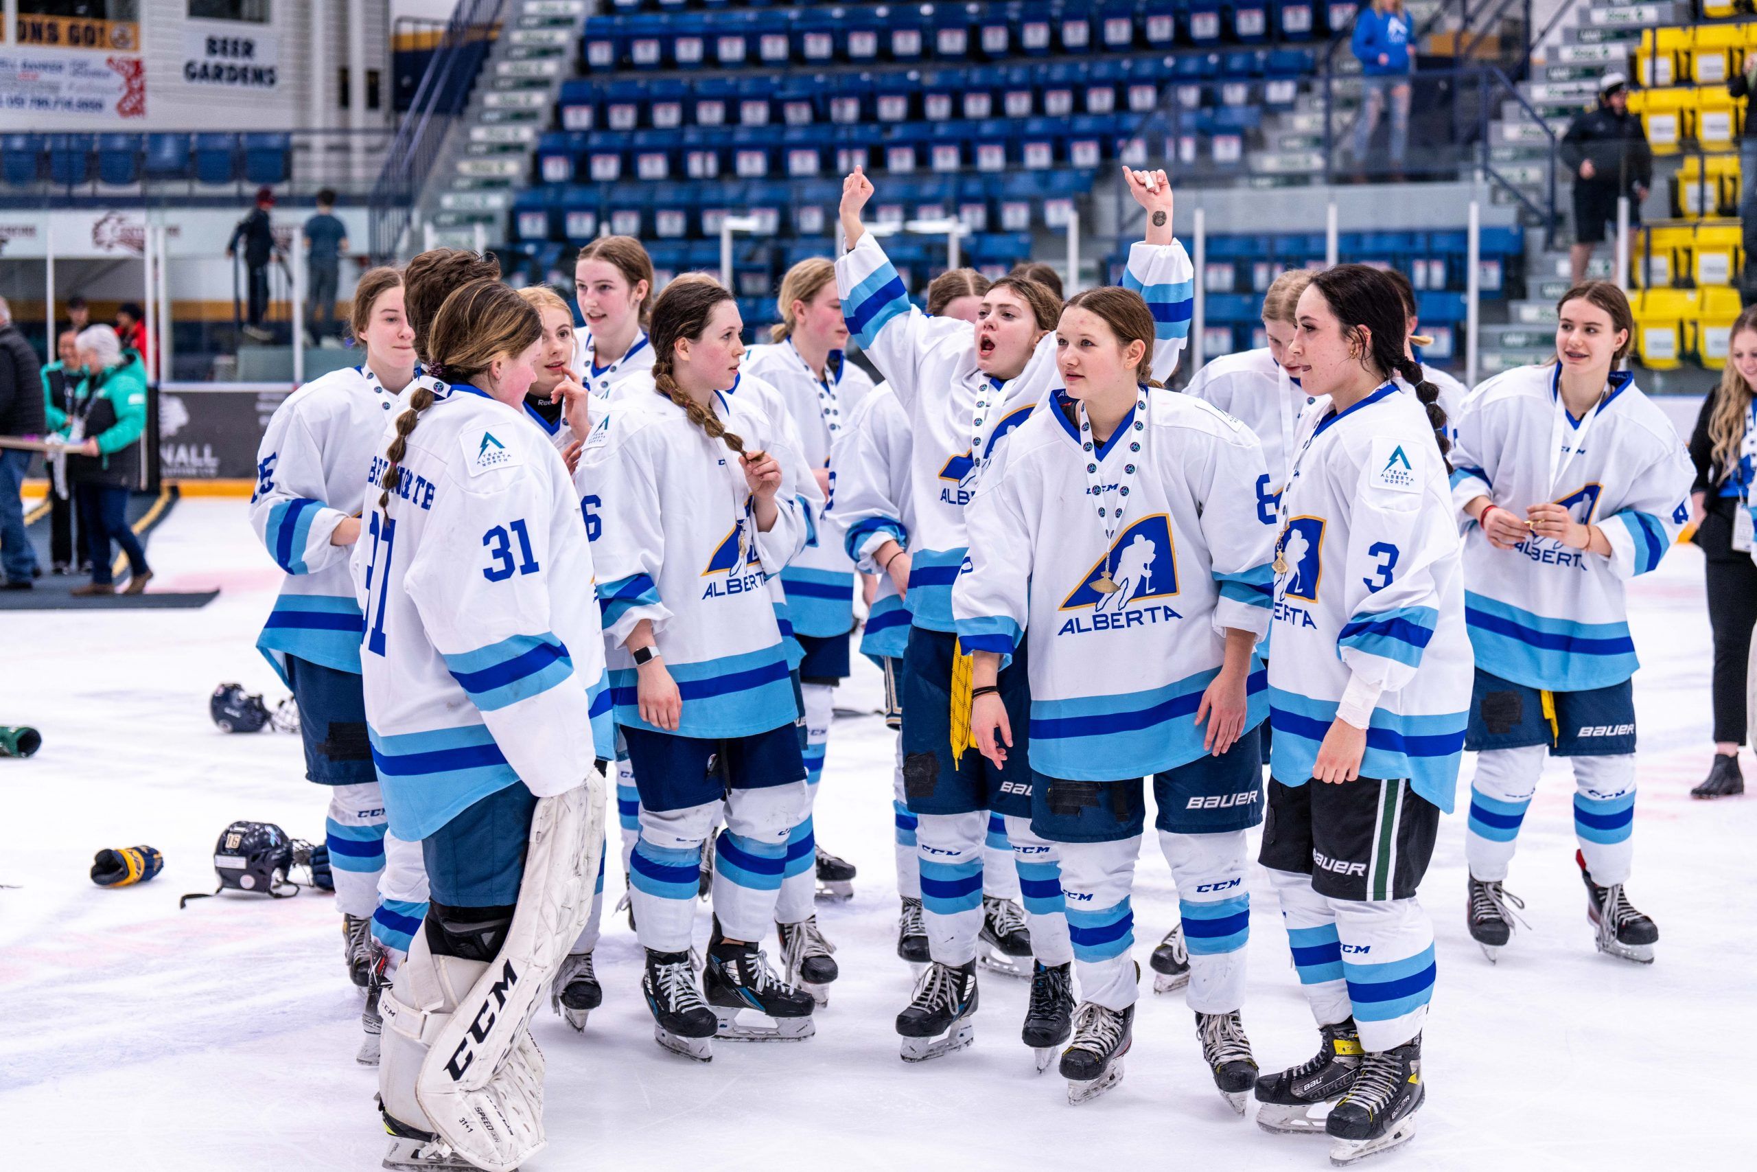
[[[1404,357],[1397,288],[1365,265],[1320,272],[1286,362],[1316,402],[1277,511],[1260,861],[1323,1049],[1258,1079],[1256,1121],[1321,1126],[1351,1163],[1407,1140],[1425,1095],[1434,926],[1414,894],[1451,808],[1471,643],[1446,420]]]

